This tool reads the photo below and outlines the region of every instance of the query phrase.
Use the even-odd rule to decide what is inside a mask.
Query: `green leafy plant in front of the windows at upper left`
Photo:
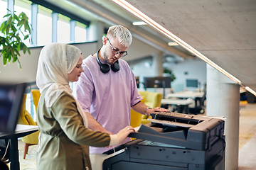
[[[21,63],[18,60],[18,56],[21,56],[20,50],[23,50],[24,54],[26,52],[29,55],[31,54],[29,48],[23,42],[31,35],[31,26],[25,13],[21,12],[17,16],[16,11],[9,12],[4,16],[7,20],[1,23],[0,26],[0,31],[3,34],[3,36],[0,36],[0,47],[2,48],[0,57],[3,56],[4,65],[7,61],[10,63],[12,60],[12,62],[17,61],[18,67],[21,68]]]

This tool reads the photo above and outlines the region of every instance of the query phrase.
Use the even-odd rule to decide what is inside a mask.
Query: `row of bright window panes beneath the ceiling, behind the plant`
[[[4,21],[3,16],[5,16],[7,13],[7,10],[6,10],[7,1],[8,0],[0,0],[0,23]],[[21,12],[26,13],[26,15],[28,16],[28,22],[31,23],[32,2],[29,0],[15,0],[14,3],[15,3],[14,11],[16,11],[16,14],[19,14]],[[55,29],[53,28],[53,23],[52,23],[53,19],[51,15],[53,11],[50,10],[49,8],[38,5],[37,28],[36,28],[37,43],[34,42],[34,45],[37,44],[38,46],[43,46],[43,45],[49,44],[50,42],[53,42],[53,38],[54,38],[54,41],[57,39],[56,40],[57,42],[69,43],[70,35],[72,35],[73,42],[86,42],[86,25],[85,24],[88,24],[88,21],[85,21],[85,24],[81,23],[81,21],[80,22],[75,21],[75,30],[72,30],[73,32],[71,34],[70,18],[68,16],[64,16],[58,13],[57,30],[52,30],[52,29]],[[22,35],[21,35],[21,38],[22,38]],[[28,47],[31,47],[30,39],[27,39],[24,42]]]

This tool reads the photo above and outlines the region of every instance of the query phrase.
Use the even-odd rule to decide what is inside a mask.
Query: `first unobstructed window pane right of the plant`
[[[52,18],[48,8],[38,5],[38,45],[47,45],[52,42]]]

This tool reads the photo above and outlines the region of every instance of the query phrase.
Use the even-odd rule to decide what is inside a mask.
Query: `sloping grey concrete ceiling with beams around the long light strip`
[[[47,0],[64,6],[67,1]],[[65,6],[73,13],[120,24],[166,54],[193,58],[181,47],[169,47],[171,41],[150,26],[132,26],[139,18],[111,0],[69,0],[80,6]],[[127,0],[151,19],[201,52],[225,71],[256,91],[256,1],[255,0]],[[64,8],[64,7],[63,7]],[[85,9],[90,13],[81,11]],[[90,15],[93,13],[93,16]]]

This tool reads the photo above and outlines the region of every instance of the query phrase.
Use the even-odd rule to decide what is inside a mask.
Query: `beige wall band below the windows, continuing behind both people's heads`
[[[82,56],[84,58],[88,55],[95,54],[95,52],[98,50],[97,42],[85,42],[74,45],[82,51]],[[18,68],[17,62],[6,64],[4,67],[3,58],[0,57],[0,83],[36,81],[36,69],[41,49],[42,47],[32,47],[31,55],[28,55],[28,53],[23,55],[23,52],[21,52],[21,57],[18,57],[18,59],[21,62],[22,70]],[[156,50],[156,48],[142,42],[141,40],[138,40],[137,38],[133,38],[132,45],[128,50],[128,55],[123,59],[134,60],[138,59],[139,57],[148,56],[154,52],[159,52],[159,50]]]

